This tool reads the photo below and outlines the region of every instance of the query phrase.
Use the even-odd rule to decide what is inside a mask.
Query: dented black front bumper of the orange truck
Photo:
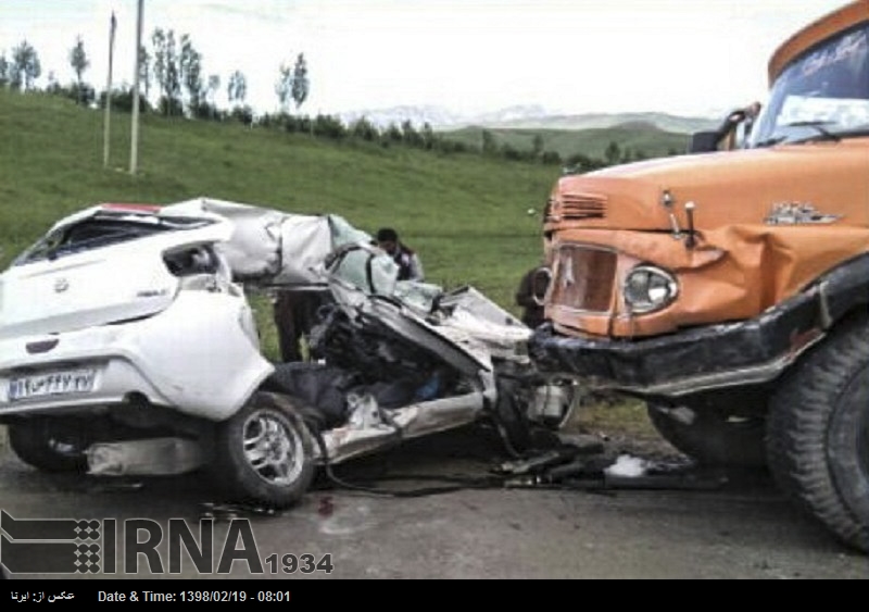
[[[534,332],[529,350],[544,372],[644,398],[681,398],[770,382],[821,340],[830,324],[830,304],[819,286],[756,319],[652,338],[565,336],[546,323]]]

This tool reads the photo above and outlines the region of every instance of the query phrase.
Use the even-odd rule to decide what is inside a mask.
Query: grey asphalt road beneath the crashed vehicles
[[[484,435],[470,430],[408,444],[383,458],[342,466],[354,482],[373,473],[484,476],[499,458]],[[400,483],[428,487],[437,483]],[[395,487],[390,482],[381,486]],[[144,554],[127,563],[115,547],[116,573],[15,574],[20,578],[869,578],[869,557],[848,551],[799,514],[764,476],[731,476],[715,490],[465,489],[394,498],[318,486],[297,508],[262,515],[217,509],[214,573],[201,573],[182,553],[169,574],[165,534],[171,519],[214,512],[209,483],[198,476],[99,480],[46,475],[0,457],[0,509],[15,520],[144,520],[164,533],[156,547],[162,567]],[[236,522],[232,523],[232,519]],[[248,521],[244,521],[248,519]],[[143,524],[143,523],[141,523]],[[136,523],[131,523],[136,525]],[[104,527],[103,526],[103,536]],[[248,527],[249,526],[249,527]],[[230,574],[225,540],[239,559]],[[140,532],[139,537],[147,535]],[[245,540],[251,535],[253,540]],[[207,538],[206,538],[207,539]],[[201,541],[201,540],[200,540]],[[253,544],[251,544],[253,542]],[[8,545],[4,545],[8,546]],[[4,549],[0,549],[2,555]],[[105,552],[105,551],[103,551]],[[302,573],[287,554],[326,558],[331,572]],[[277,555],[277,562],[265,561]],[[7,557],[2,557],[5,559]],[[247,561],[241,559],[247,558]],[[262,574],[252,559],[263,560]],[[103,560],[104,561],[104,560]],[[202,561],[201,561],[202,562]],[[326,563],[323,567],[326,567]],[[104,567],[104,565],[103,565]],[[295,570],[291,572],[290,570]],[[153,571],[153,573],[151,572]],[[130,573],[125,573],[130,572]]]

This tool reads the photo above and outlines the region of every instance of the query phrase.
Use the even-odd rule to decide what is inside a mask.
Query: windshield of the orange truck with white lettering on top
[[[869,135],[869,24],[814,47],[770,91],[750,147]]]

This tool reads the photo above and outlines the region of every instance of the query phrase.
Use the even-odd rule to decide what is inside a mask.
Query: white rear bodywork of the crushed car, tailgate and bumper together
[[[72,215],[50,233],[103,210]],[[213,223],[13,265],[0,275],[0,415],[111,405],[134,394],[209,421],[238,411],[274,367],[260,353],[240,287],[217,278],[201,290],[184,289],[194,282],[164,264],[167,252],[231,237],[227,220],[199,218]],[[55,346],[35,351],[40,344]],[[95,372],[93,388],[11,398],[13,379],[71,371]]]

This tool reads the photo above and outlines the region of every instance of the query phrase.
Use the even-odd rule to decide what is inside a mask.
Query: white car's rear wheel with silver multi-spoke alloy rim
[[[289,508],[314,477],[313,441],[289,400],[260,392],[218,427],[215,463],[239,500]]]

